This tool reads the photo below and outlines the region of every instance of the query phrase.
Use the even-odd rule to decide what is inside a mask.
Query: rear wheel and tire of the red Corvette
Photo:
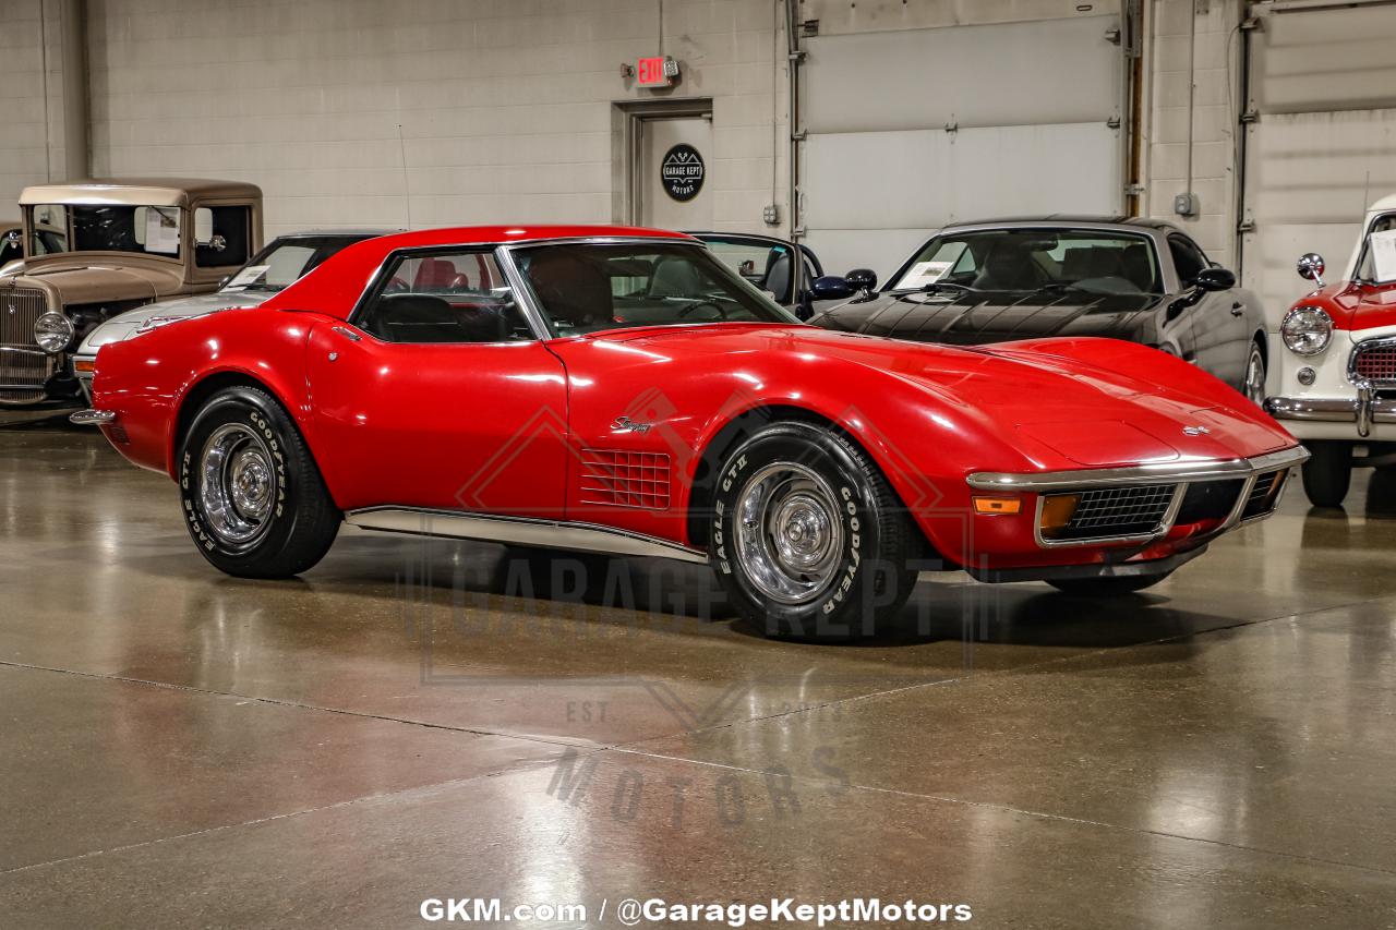
[[[295,423],[265,391],[219,391],[179,450],[184,524],[198,552],[243,578],[289,578],[318,563],[342,515]]]

